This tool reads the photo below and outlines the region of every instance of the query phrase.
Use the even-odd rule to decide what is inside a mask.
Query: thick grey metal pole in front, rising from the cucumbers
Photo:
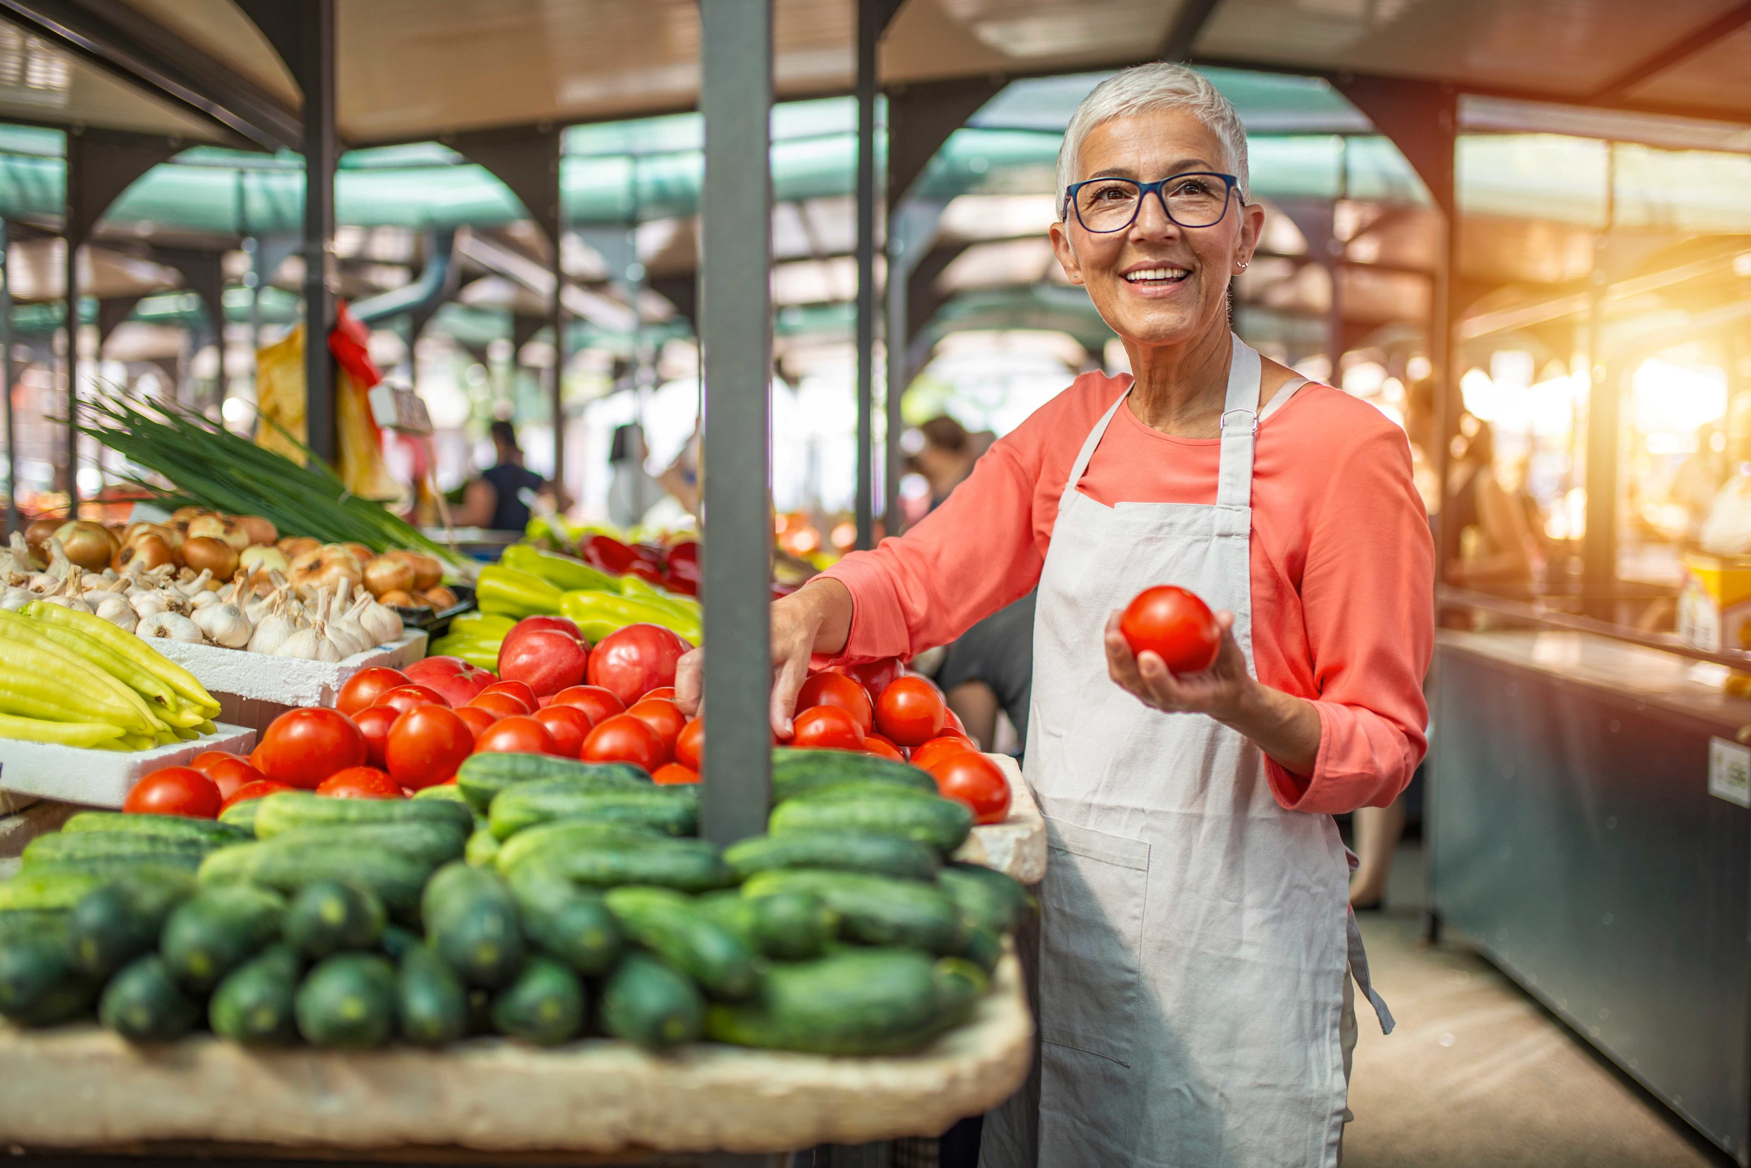
[[[772,395],[772,0],[700,0],[706,185],[706,775],[700,834],[765,831],[772,803],[767,442]]]

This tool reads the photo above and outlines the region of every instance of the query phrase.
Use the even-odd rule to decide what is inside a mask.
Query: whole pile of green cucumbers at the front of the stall
[[[217,822],[88,811],[0,885],[0,1016],[137,1042],[918,1049],[989,986],[1024,890],[947,860],[972,813],[911,766],[774,752],[769,834],[699,789],[478,754],[406,801],[282,792]]]

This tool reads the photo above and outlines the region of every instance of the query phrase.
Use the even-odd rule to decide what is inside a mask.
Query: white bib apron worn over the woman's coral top
[[[1331,817],[1285,811],[1241,734],[1147,708],[1107,675],[1107,615],[1152,584],[1233,612],[1252,670],[1259,369],[1234,337],[1213,507],[1105,507],[1077,491],[1124,397],[1065,484],[1040,575],[1026,755],[1051,846],[1038,1154],[1017,1096],[986,1121],[982,1168],[1331,1168],[1347,965],[1392,1026],[1368,983]]]

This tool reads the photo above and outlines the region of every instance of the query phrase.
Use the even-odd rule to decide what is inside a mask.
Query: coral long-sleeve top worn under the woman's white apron
[[[1024,596],[1077,451],[1128,386],[1077,378],[907,535],[830,568],[854,603],[839,661],[911,657]],[[1161,434],[1126,404],[1077,490],[1105,505],[1215,504],[1219,453],[1220,439]],[[1254,668],[1320,717],[1313,775],[1266,761],[1285,808],[1385,806],[1410,783],[1427,747],[1432,574],[1404,432],[1348,393],[1303,386],[1259,427],[1252,481]]]

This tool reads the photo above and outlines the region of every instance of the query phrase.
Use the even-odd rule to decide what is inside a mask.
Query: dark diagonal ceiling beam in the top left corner
[[[298,149],[298,112],[121,0],[0,0],[0,17],[221,126],[240,145]]]

